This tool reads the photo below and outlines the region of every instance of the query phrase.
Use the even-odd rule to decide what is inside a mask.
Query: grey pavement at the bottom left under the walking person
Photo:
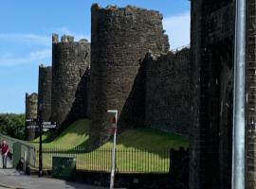
[[[0,189],[104,189],[77,182],[21,175],[14,169],[0,169]]]

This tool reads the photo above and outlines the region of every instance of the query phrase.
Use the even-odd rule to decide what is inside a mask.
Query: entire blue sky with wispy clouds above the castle
[[[0,112],[25,112],[37,92],[38,66],[51,63],[51,34],[90,39],[90,8],[133,5],[159,10],[171,49],[190,43],[188,0],[8,0],[0,2]]]

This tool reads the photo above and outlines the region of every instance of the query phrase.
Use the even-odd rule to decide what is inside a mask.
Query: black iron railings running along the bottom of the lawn
[[[38,157],[38,149],[36,149]],[[43,167],[51,170],[52,157],[74,157],[78,170],[110,172],[112,149],[100,148],[88,151],[81,147],[43,147]],[[170,150],[117,149],[117,172],[119,173],[168,173]],[[38,158],[36,161],[38,166]]]

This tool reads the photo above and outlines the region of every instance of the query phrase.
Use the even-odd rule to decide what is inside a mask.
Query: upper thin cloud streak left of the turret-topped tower
[[[50,36],[38,34],[22,34],[22,33],[0,33],[0,41],[14,43],[35,43],[42,45],[51,45]]]

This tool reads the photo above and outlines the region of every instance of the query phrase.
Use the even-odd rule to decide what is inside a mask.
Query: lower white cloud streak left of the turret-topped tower
[[[13,54],[3,54],[0,56],[0,66],[15,66],[28,63],[41,63],[46,59],[50,59],[51,49],[44,49],[40,51],[30,52],[23,57],[16,57]]]

